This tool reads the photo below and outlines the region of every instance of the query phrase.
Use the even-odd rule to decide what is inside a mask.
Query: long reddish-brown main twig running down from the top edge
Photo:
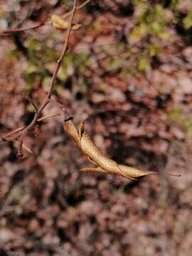
[[[76,2],[77,0],[74,0],[74,4],[73,4],[73,10],[71,13],[71,17],[70,17],[70,23],[69,23],[69,27],[67,30],[67,34],[66,34],[66,38],[65,38],[65,43],[63,46],[63,50],[60,54],[60,58],[58,59],[58,63],[55,67],[54,73],[53,73],[53,77],[50,81],[50,85],[49,85],[49,89],[48,89],[48,94],[46,96],[46,98],[43,100],[43,103],[41,104],[41,106],[39,107],[39,109],[37,110],[35,116],[33,117],[33,120],[30,124],[28,124],[28,126],[23,130],[23,132],[21,133],[20,137],[18,137],[18,154],[17,156],[22,158],[23,157],[23,150],[22,150],[22,145],[23,145],[23,138],[26,136],[26,134],[28,133],[28,131],[36,124],[38,117],[40,117],[42,111],[44,110],[44,108],[46,107],[46,105],[48,104],[49,100],[50,100],[50,96],[53,92],[53,87],[55,85],[55,80],[57,78],[58,75],[58,71],[60,69],[60,65],[63,61],[63,58],[65,56],[66,51],[68,50],[68,41],[70,38],[70,31],[71,31],[71,26],[73,23],[73,18],[75,16],[75,11],[76,11]]]

